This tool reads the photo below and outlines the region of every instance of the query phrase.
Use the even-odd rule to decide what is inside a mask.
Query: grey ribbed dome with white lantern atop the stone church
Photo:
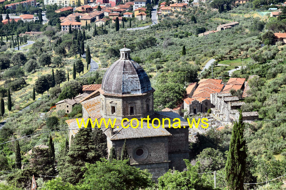
[[[144,69],[130,59],[130,49],[120,50],[120,59],[114,62],[104,74],[102,90],[111,94],[142,94],[152,90]]]

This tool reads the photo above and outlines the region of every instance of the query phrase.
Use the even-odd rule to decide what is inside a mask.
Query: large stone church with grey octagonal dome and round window
[[[116,155],[120,156],[126,140],[130,165],[148,169],[155,180],[164,175],[168,169],[175,168],[182,171],[186,167],[183,159],[189,158],[189,126],[177,113],[154,111],[154,91],[147,73],[138,63],[130,59],[130,49],[124,46],[120,50],[120,59],[106,71],[101,88],[82,99],[80,103],[85,121],[88,118],[92,121],[116,118],[118,128],[101,127],[107,139],[108,152],[114,147]],[[162,128],[162,125],[159,128],[152,126],[147,128],[147,122],[140,121],[140,118],[147,116],[151,121],[158,118],[161,124],[162,119],[169,118],[171,127],[167,127],[169,122],[165,120],[165,128]],[[137,118],[139,126],[143,127],[123,128],[121,125],[123,118]],[[174,118],[180,118],[180,128],[177,127],[178,123],[173,122]],[[71,136],[78,132],[78,123],[76,119],[69,119],[66,122],[71,139]],[[130,125],[130,121],[123,124]],[[136,126],[137,121],[133,120],[132,124]],[[154,124],[158,125],[158,121],[156,120]]]

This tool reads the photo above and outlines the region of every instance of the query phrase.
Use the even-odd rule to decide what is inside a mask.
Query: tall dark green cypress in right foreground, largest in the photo
[[[229,153],[225,166],[225,179],[227,186],[231,190],[242,190],[245,178],[246,167],[246,146],[243,138],[244,124],[240,112],[239,121],[233,125],[231,141],[229,144]]]

